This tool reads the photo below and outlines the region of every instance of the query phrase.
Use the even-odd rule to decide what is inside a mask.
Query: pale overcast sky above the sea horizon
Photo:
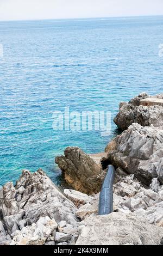
[[[0,0],[0,20],[163,15],[163,0]]]

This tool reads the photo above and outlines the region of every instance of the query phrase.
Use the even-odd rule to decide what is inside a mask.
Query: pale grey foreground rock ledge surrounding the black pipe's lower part
[[[117,170],[114,212],[97,216],[99,193],[62,193],[43,173],[23,170],[1,189],[1,245],[160,245],[163,188]],[[133,232],[134,231],[134,232]]]

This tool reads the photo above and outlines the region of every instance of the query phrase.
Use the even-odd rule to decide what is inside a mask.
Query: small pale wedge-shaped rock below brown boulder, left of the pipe
[[[87,194],[84,194],[84,193],[81,193],[79,191],[76,191],[76,190],[67,190],[65,189],[64,190],[64,194],[66,195],[66,197],[68,199],[70,199],[77,207],[80,205],[80,204],[86,204],[88,202],[90,202],[91,197],[87,196]]]

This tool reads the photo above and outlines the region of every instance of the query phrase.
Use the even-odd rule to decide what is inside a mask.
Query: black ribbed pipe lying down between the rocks
[[[111,214],[113,211],[113,194],[112,186],[114,182],[115,168],[112,165],[108,166],[108,173],[106,174],[101,192],[99,194],[98,215]]]

